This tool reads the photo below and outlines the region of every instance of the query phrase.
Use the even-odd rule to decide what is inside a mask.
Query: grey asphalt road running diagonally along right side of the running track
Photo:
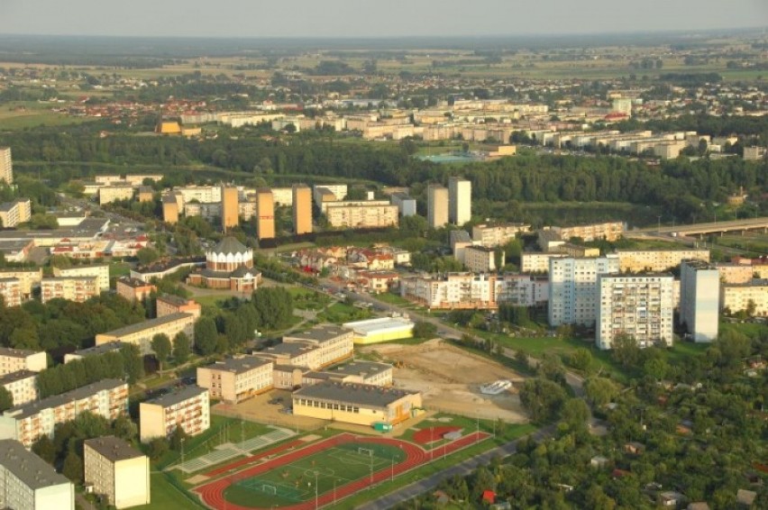
[[[533,437],[536,441],[540,441],[544,437],[551,435],[553,430],[553,426],[545,427],[543,429],[539,429],[527,437]],[[390,492],[387,496],[379,497],[379,499],[376,501],[370,501],[364,505],[357,506],[357,509],[384,510],[386,508],[391,508],[394,505],[398,505],[398,503],[407,501],[413,497],[420,496],[429,491],[433,491],[445,479],[452,478],[454,475],[459,475],[462,477],[466,476],[473,470],[478,469],[480,466],[487,466],[490,463],[490,460],[494,457],[504,458],[515,453],[517,451],[517,442],[519,442],[520,439],[507,442],[506,444],[502,444],[501,446],[498,446],[492,450],[480,453],[480,455],[472,457],[471,459],[464,460],[463,462],[460,462],[451,468],[443,469],[431,477],[423,478],[410,485],[407,485],[406,487],[402,487],[394,492]]]

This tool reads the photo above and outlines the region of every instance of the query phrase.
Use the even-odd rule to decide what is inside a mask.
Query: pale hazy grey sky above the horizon
[[[768,0],[0,0],[0,33],[403,37],[768,27]]]

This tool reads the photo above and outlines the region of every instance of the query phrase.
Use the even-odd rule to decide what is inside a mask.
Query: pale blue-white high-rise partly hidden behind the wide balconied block
[[[618,272],[618,257],[563,257],[549,260],[549,310],[551,326],[592,325],[598,318],[598,276]]]

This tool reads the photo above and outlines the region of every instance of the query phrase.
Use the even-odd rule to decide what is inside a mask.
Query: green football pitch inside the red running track
[[[224,498],[235,505],[268,508],[313,501],[354,480],[394,469],[406,458],[406,452],[395,445],[344,442],[259,475],[235,479],[224,490]]]

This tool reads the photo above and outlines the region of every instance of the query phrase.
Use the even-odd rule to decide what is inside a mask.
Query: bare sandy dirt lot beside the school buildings
[[[513,387],[499,395],[483,395],[480,384],[524,379],[514,370],[492,360],[462,351],[439,339],[419,345],[370,345],[362,352],[375,352],[382,361],[395,365],[395,387],[418,389],[427,409],[446,413],[500,418],[509,423],[526,423],[525,411]]]

